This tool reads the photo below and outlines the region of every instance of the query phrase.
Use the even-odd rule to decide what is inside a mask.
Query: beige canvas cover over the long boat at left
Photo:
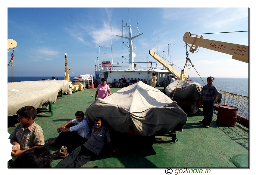
[[[61,81],[22,81],[8,83],[8,116],[16,115],[24,106],[41,108],[49,101],[55,103],[58,92],[67,92],[69,82]]]

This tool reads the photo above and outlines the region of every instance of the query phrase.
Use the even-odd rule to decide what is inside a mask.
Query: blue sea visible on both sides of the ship
[[[52,77],[12,77],[12,81],[39,81],[42,79],[50,79]],[[55,79],[64,80],[64,77],[55,77]],[[207,84],[207,77],[202,77],[204,82],[200,77],[189,77],[189,83],[199,83],[204,86],[204,83]],[[8,82],[11,82],[11,76],[8,76]],[[214,86],[217,87],[218,90],[228,91],[237,95],[249,96],[249,78],[217,78],[214,77],[213,81]]]

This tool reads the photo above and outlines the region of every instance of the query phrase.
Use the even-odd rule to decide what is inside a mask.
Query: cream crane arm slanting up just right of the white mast
[[[158,56],[153,49],[149,50],[149,55],[151,55],[154,59],[156,59],[161,65],[163,65],[165,68],[167,68],[168,71],[170,71],[173,75],[175,75],[178,79],[180,79],[180,74],[177,72],[174,68],[172,68],[167,62],[165,62],[163,59]],[[187,80],[187,71],[181,70],[181,80]]]

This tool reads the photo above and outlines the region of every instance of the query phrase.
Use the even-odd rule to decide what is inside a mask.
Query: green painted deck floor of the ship
[[[111,88],[114,93],[120,88]],[[90,93],[93,97],[90,95]],[[96,88],[88,89],[64,95],[57,98],[53,104],[54,116],[50,113],[39,113],[35,122],[44,131],[45,147],[51,153],[58,150],[60,146],[67,146],[68,152],[76,148],[70,140],[66,139],[61,145],[48,145],[47,140],[56,137],[57,128],[67,121],[75,118],[75,112],[82,110],[85,112],[95,98]],[[202,109],[198,113],[188,116],[188,121],[183,128],[183,132],[176,132],[178,141],[170,142],[170,137],[156,136],[152,146],[145,146],[129,138],[111,138],[120,151],[108,152],[104,149],[96,158],[89,161],[82,167],[236,167],[230,161],[233,156],[242,154],[248,155],[248,128],[237,123],[234,127],[228,127],[216,123],[217,111],[214,111],[211,128],[204,128],[198,121],[203,119]],[[11,133],[16,126],[8,126]],[[139,142],[136,142],[136,140]],[[122,142],[121,142],[122,141]],[[123,143],[126,145],[118,144]],[[246,156],[243,156],[246,158]],[[248,157],[248,156],[247,156]],[[53,158],[52,167],[55,167],[61,160]],[[238,160],[239,161],[239,160]],[[248,159],[243,161],[243,166],[248,167]]]

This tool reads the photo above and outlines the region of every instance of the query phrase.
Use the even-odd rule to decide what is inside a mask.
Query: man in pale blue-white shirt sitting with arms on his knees
[[[63,126],[57,129],[59,134],[55,140],[47,140],[49,145],[60,143],[67,137],[77,142],[79,145],[86,142],[89,137],[90,125],[87,123],[86,117],[84,117],[83,111],[77,111],[75,113],[76,119],[70,120]]]

